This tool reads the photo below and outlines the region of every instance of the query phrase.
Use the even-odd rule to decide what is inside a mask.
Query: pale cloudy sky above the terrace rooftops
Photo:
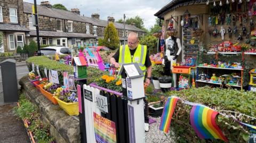
[[[34,3],[34,0],[23,0],[24,2]],[[78,8],[81,15],[91,16],[92,13],[99,13],[100,19],[107,20],[108,16],[113,16],[116,21],[126,18],[132,18],[139,15],[144,19],[144,26],[149,29],[155,24],[156,16],[154,14],[163,6],[172,0],[47,0],[52,5],[61,3],[68,10]],[[40,4],[42,0],[37,0]]]

